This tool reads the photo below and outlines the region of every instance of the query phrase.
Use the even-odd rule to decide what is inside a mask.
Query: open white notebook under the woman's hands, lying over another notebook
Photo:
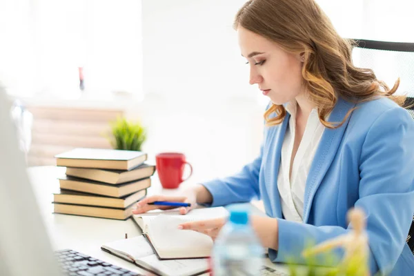
[[[179,224],[227,215],[224,207],[197,208],[187,215],[179,215],[175,209],[132,215],[132,220],[141,228],[142,235],[159,259],[192,259],[209,257],[213,239],[193,230],[179,230]]]

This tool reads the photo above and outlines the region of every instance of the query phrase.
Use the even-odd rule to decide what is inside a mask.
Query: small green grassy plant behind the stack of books
[[[146,141],[146,128],[139,121],[128,121],[125,117],[117,117],[110,122],[111,135],[107,137],[112,148],[116,150],[138,150]]]

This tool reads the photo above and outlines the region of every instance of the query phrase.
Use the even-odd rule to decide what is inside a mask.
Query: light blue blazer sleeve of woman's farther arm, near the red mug
[[[259,157],[244,166],[236,175],[202,184],[213,196],[213,202],[209,206],[248,202],[260,197],[259,171],[262,166],[262,152],[263,146],[260,148]]]

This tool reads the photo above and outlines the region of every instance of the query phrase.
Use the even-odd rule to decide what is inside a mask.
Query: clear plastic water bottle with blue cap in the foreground
[[[230,210],[230,217],[215,241],[213,276],[259,275],[264,248],[251,227],[246,210]]]

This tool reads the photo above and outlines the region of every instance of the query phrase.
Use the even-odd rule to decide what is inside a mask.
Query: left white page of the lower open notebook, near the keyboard
[[[104,244],[102,247],[110,249],[111,251],[116,250],[119,253],[124,253],[124,255],[130,256],[132,259],[154,255],[150,244],[148,244],[143,236],[133,237],[131,239],[119,239],[115,242]]]

